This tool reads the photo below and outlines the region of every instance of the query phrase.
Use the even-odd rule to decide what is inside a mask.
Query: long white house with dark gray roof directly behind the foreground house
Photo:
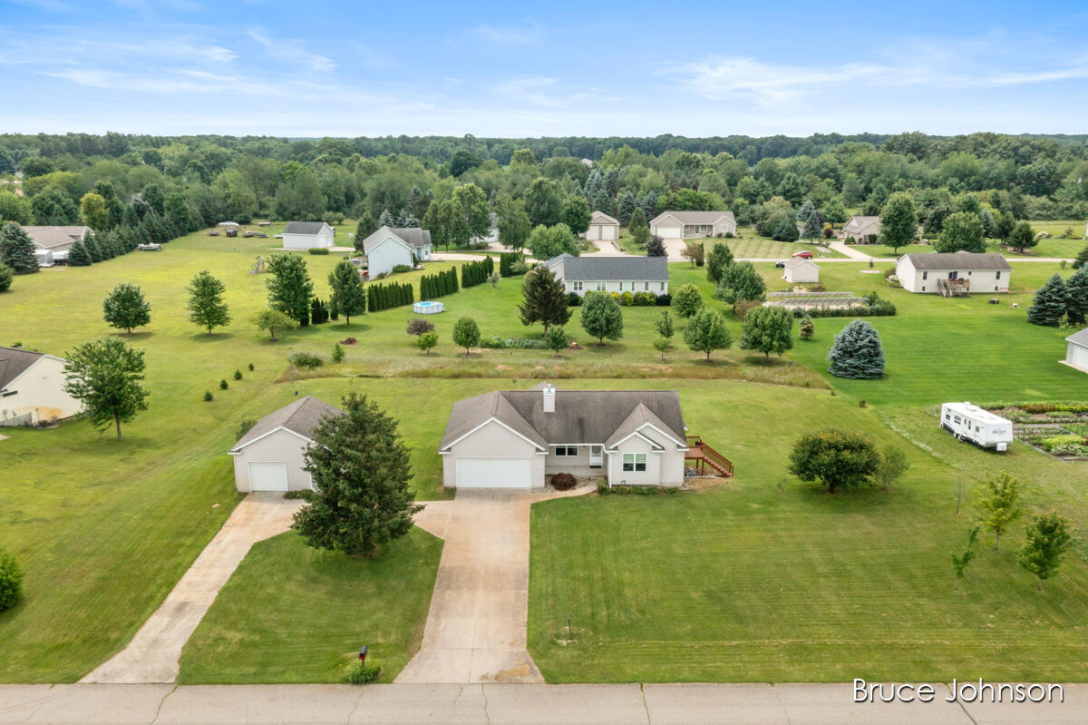
[[[669,291],[669,266],[665,257],[572,257],[561,254],[544,262],[567,292]]]

